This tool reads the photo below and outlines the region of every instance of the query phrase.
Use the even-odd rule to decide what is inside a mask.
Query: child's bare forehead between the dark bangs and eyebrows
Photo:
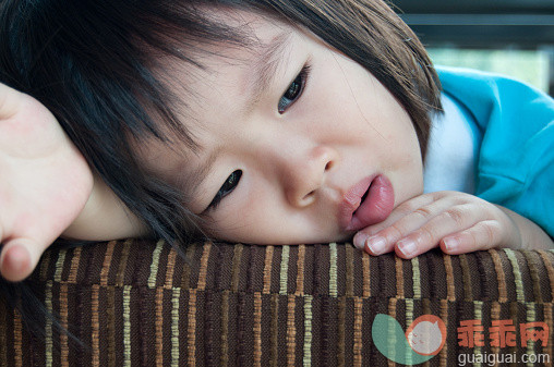
[[[300,36],[294,27],[255,13],[216,12],[214,16],[243,42],[198,45],[194,64],[181,60],[167,64],[170,89],[182,99],[182,120],[198,130],[197,134],[209,125],[206,120],[212,113],[238,112],[234,109],[243,106],[244,99],[260,93],[253,89],[267,87],[270,76],[278,77],[270,74],[278,72],[278,62],[287,62],[291,45]]]

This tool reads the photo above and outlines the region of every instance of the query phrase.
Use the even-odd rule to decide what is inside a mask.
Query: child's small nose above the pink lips
[[[337,159],[336,150],[328,146],[317,146],[309,149],[305,155],[289,157],[282,175],[288,201],[298,208],[314,203]]]

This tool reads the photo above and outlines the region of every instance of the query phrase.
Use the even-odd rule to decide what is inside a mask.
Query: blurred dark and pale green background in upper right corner
[[[554,0],[386,0],[436,64],[507,74],[554,96]]]

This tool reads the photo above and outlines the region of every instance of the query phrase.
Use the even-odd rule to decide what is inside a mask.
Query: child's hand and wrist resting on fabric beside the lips
[[[492,247],[554,248],[550,236],[529,219],[458,192],[407,200],[385,221],[360,231],[354,244],[372,255],[395,250],[402,258],[436,246],[451,255]]]

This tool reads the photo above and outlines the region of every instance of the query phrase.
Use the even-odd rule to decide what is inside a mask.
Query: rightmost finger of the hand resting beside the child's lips
[[[445,236],[441,241],[441,248],[446,254],[459,255],[497,247],[502,238],[501,223],[496,220],[486,220],[465,231]]]

